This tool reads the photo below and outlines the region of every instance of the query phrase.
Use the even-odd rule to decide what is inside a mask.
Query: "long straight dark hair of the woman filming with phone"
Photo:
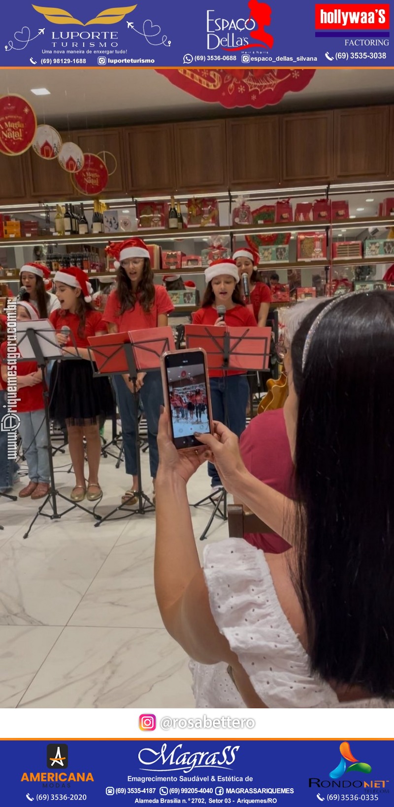
[[[292,341],[297,587],[310,663],[327,681],[392,698],[394,295],[342,299],[313,333],[300,375],[319,309]]]

